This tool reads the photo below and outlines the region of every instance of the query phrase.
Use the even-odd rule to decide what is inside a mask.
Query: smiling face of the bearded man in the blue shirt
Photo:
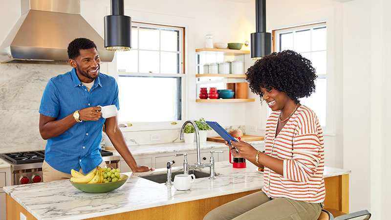
[[[92,82],[92,80],[99,76],[101,60],[98,51],[93,47],[90,49],[81,49],[79,52],[80,55],[74,60],[71,59],[70,64],[76,68],[80,81],[84,83]]]

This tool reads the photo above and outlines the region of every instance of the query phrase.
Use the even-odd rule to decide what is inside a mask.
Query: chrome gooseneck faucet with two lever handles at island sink
[[[188,174],[189,170],[194,170],[194,169],[201,169],[205,167],[209,167],[210,171],[210,179],[215,178],[215,159],[213,157],[213,153],[223,153],[222,151],[211,151],[211,159],[209,160],[209,163],[201,163],[201,150],[199,147],[199,132],[198,132],[198,127],[193,121],[185,121],[182,125],[182,129],[180,130],[180,139],[183,140],[183,132],[185,130],[185,127],[187,124],[192,124],[193,127],[195,128],[195,140],[196,140],[196,146],[197,146],[197,162],[195,164],[189,164],[187,161],[187,153],[184,154],[175,154],[175,156],[179,155],[184,155],[185,159],[183,161],[183,173]]]

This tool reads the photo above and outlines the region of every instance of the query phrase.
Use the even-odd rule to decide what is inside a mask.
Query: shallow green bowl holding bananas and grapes
[[[126,180],[128,180],[129,176],[126,176],[125,174],[121,174],[120,181],[116,182],[107,182],[107,183],[78,183],[78,182],[69,182],[76,188],[81,191],[87,192],[87,193],[106,193],[115,189],[118,189],[124,183]]]

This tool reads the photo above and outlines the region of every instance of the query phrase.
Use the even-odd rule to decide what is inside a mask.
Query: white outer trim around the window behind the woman
[[[300,17],[296,21],[292,21],[290,24],[277,24],[275,28],[269,30],[272,32],[273,30],[278,30],[282,28],[295,27],[298,25],[307,25],[311,24],[308,21],[304,22],[307,17],[318,17],[319,19],[314,20],[313,24],[319,22],[326,22],[326,126],[322,126],[323,134],[325,136],[336,136],[336,128],[335,128],[335,106],[334,106],[334,72],[335,72],[335,50],[336,50],[336,42],[335,35],[336,33],[336,24],[334,22],[334,12],[332,10],[324,10],[317,13],[317,15],[308,15]],[[300,20],[302,20],[300,22]],[[283,19],[282,19],[283,21]],[[296,24],[294,23],[296,22]],[[277,22],[278,23],[278,22]],[[276,25],[276,24],[275,24]],[[298,27],[302,29],[303,27]],[[285,31],[285,32],[290,32]],[[276,45],[279,43],[276,42]],[[266,121],[268,118],[267,107],[262,105],[262,112],[266,112],[263,114],[261,126],[263,129],[266,129]]]

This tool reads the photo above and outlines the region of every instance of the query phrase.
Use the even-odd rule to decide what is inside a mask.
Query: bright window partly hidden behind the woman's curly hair
[[[315,111],[321,126],[326,126],[326,22],[274,30],[273,36],[274,51],[295,50],[312,62],[318,76],[316,91],[300,103]]]

